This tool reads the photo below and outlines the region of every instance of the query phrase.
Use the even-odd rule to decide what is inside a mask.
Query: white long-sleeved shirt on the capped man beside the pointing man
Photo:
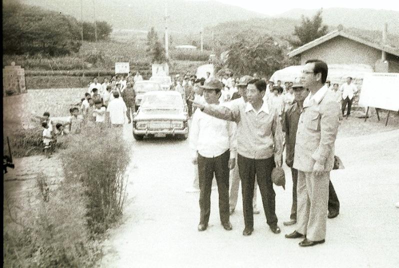
[[[210,116],[196,109],[191,122],[190,148],[193,157],[199,153],[211,158],[230,150],[230,159],[236,155],[235,124],[230,121]]]

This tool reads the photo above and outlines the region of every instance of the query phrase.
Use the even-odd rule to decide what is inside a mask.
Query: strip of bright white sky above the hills
[[[194,0],[191,0],[194,1]],[[207,0],[201,0],[207,1]],[[236,5],[251,11],[268,15],[277,15],[292,8],[319,9],[320,7],[372,8],[399,11],[398,0],[216,0],[225,4]],[[398,18],[399,19],[399,18]]]

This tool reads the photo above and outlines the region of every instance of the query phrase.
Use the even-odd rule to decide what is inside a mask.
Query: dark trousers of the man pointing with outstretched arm
[[[268,225],[277,224],[275,215],[275,192],[271,182],[271,170],[275,166],[274,157],[267,159],[251,159],[240,154],[237,156],[239,177],[241,178],[242,210],[245,228],[253,229],[253,187],[255,175],[262,196],[263,210]]]

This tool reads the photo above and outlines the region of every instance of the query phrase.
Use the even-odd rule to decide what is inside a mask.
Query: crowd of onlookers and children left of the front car
[[[138,71],[134,75],[128,73],[105,77],[102,83],[94,77],[87,85],[87,92],[80,103],[69,109],[66,123],[53,123],[48,111],[38,116],[43,128],[45,155],[50,157],[57,140],[68,134],[78,134],[82,128],[96,128],[99,131],[106,127],[120,128],[125,123],[125,117],[130,123],[135,112],[133,84],[139,80],[142,80],[142,76]]]

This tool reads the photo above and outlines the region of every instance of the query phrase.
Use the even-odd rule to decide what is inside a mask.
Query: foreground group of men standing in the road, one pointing
[[[272,232],[280,232],[271,172],[274,167],[282,165],[284,130],[285,144],[290,146],[286,150],[286,161],[291,161],[290,164],[287,162],[288,166],[297,172],[297,183],[293,188],[293,197],[297,199],[293,198],[293,202],[297,205],[295,209],[292,205],[295,211],[291,211],[291,216],[296,215],[290,221],[291,224],[297,223],[297,227],[285,237],[303,238],[300,246],[324,242],[329,185],[332,187],[329,172],[333,167],[334,142],[341,112],[332,91],[324,85],[327,72],[327,64],[323,61],[308,60],[305,63],[302,86],[294,88],[295,101],[282,123],[278,113],[264,100],[267,87],[264,80],[243,77],[237,84],[240,97],[224,103],[218,101],[222,83],[217,79],[205,81],[201,86],[205,101],[193,101],[197,109],[190,131],[193,162],[198,164],[199,175],[199,231],[208,226],[213,177],[217,183],[221,224],[226,230],[232,229],[229,221],[229,170],[237,164],[242,186],[242,234],[250,235],[253,231],[255,181],[259,186],[266,222]],[[295,116],[296,129],[290,127]],[[293,137],[291,132],[295,132]]]

